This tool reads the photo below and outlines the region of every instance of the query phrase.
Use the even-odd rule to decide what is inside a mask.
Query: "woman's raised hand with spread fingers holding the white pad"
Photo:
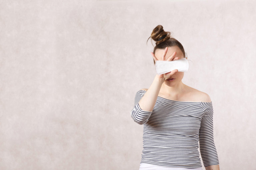
[[[179,59],[179,57],[175,57],[176,51],[174,51],[173,54],[169,58],[165,59],[167,51],[168,51],[168,47],[166,47],[164,49],[164,53],[162,55],[161,61],[173,61],[173,60]],[[153,52],[151,52],[151,55],[153,56],[153,58],[154,58],[154,60],[156,62],[158,59],[156,58],[155,54]],[[177,71],[178,71],[178,69],[175,69],[175,70],[172,70],[171,72],[164,73],[164,74],[161,74],[161,75],[157,74],[156,77],[158,77],[162,82],[164,82],[165,80],[167,80],[169,77],[171,77]]]

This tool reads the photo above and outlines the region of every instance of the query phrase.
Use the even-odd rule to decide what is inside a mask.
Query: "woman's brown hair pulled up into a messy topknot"
[[[165,49],[166,47],[171,47],[171,46],[177,45],[180,48],[180,50],[183,52],[184,58],[185,58],[185,50],[184,50],[182,44],[175,38],[171,37],[170,35],[171,35],[171,33],[165,32],[163,29],[163,26],[161,26],[161,25],[158,25],[158,26],[156,26],[156,28],[154,28],[154,30],[151,33],[151,36],[148,38],[148,40],[151,38],[151,43],[152,43],[152,39],[156,42],[156,46],[154,47],[153,53],[155,54],[156,49]],[[162,36],[166,36],[166,37],[163,38],[162,40],[158,41]],[[147,40],[147,42],[148,42],[148,40]],[[152,45],[153,45],[153,43],[152,43]],[[155,64],[155,60],[154,60],[154,64]]]

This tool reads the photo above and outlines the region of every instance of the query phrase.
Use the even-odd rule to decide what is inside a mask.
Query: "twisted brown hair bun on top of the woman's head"
[[[152,40],[154,40],[156,42],[156,45],[158,45],[161,42],[164,42],[165,40],[168,40],[171,38],[171,33],[170,32],[165,32],[163,29],[163,26],[158,25],[156,26],[152,33],[151,36],[149,38],[151,38]],[[148,39],[149,39],[148,38]],[[152,42],[152,41],[151,41]]]

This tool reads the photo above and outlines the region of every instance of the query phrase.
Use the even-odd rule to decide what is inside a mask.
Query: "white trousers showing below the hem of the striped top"
[[[156,166],[151,165],[147,163],[141,163],[139,170],[203,170],[202,167],[199,168],[173,168],[173,167],[162,167],[162,166]]]

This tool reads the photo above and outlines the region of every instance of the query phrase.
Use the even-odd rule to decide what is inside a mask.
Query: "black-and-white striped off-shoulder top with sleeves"
[[[141,163],[163,167],[201,167],[218,165],[213,139],[212,102],[184,102],[157,97],[152,112],[144,111],[139,101],[146,93],[135,95],[132,119],[143,125]]]

